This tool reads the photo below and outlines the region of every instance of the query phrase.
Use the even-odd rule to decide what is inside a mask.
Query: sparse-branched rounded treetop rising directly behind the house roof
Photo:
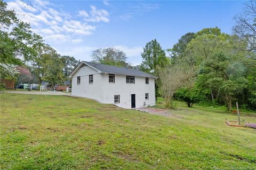
[[[126,61],[126,54],[114,47],[98,48],[92,52],[91,57],[95,63],[118,67],[127,67],[129,65]]]

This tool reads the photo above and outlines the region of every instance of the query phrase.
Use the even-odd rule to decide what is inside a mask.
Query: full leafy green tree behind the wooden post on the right
[[[230,51],[214,52],[202,62],[197,81],[205,84],[211,91],[217,91],[231,111],[232,99],[235,93],[242,93],[247,87],[245,67],[238,53]]]

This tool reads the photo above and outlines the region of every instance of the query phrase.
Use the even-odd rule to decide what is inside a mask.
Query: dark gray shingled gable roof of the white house
[[[110,66],[107,64],[97,64],[97,63],[88,62],[88,61],[83,61],[82,63],[86,64],[89,67],[94,68],[95,70],[98,70],[101,72],[107,72],[110,74],[121,74],[121,75],[127,75],[127,76],[141,76],[141,77],[156,78],[153,75],[147,74],[146,72],[143,72],[143,71],[137,70],[137,69],[131,69],[131,68],[126,68],[126,67],[116,67],[116,66]],[[76,71],[77,71],[77,69],[74,70],[74,72],[76,72]],[[70,76],[72,76],[73,73]]]

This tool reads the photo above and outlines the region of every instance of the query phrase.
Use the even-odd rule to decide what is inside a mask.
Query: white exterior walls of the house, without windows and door
[[[89,75],[93,75],[93,84],[89,84]],[[81,83],[77,84],[77,77]],[[127,75],[129,76],[129,75]],[[149,94],[149,100],[145,99]],[[155,105],[155,79],[135,76],[135,84],[126,84],[126,75],[115,74],[115,83],[108,82],[108,74],[98,73],[97,70],[84,65],[73,75],[72,95],[98,100],[101,103],[114,104],[114,95],[120,95],[120,103],[116,106],[131,108],[131,94],[135,94],[135,107]],[[146,104],[145,104],[146,103]]]

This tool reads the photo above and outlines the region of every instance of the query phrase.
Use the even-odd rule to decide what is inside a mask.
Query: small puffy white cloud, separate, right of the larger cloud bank
[[[90,14],[82,10],[78,12],[78,16],[83,17],[86,22],[109,22],[109,13],[103,9],[97,9],[96,6],[91,5]]]

